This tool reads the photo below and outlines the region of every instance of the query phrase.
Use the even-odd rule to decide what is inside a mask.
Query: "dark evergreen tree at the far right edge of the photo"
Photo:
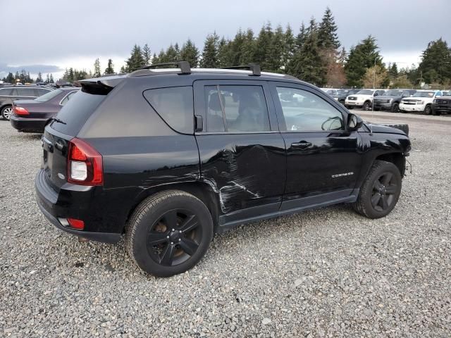
[[[421,55],[419,71],[426,83],[445,84],[451,80],[451,49],[441,37],[428,43]]]

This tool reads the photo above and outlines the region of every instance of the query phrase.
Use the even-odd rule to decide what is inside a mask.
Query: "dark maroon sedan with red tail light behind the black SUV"
[[[13,101],[9,120],[19,132],[44,132],[51,118],[78,92],[79,88],[60,88],[34,100]]]

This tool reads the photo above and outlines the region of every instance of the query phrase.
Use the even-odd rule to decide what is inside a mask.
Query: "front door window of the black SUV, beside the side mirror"
[[[336,108],[311,92],[277,87],[285,125],[289,132],[344,130],[343,116]]]

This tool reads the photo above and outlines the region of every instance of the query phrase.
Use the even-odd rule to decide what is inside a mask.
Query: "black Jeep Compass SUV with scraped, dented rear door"
[[[395,207],[410,149],[401,130],[257,65],[177,64],[82,80],[45,128],[35,188],[56,227],[99,242],[125,232],[140,268],[170,276],[235,225],[338,203],[369,218]]]

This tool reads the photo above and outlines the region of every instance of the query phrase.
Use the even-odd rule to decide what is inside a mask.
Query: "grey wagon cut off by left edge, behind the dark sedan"
[[[50,92],[51,88],[13,85],[0,88],[0,112],[5,120],[9,120],[9,116],[13,113],[14,100],[35,99]]]

